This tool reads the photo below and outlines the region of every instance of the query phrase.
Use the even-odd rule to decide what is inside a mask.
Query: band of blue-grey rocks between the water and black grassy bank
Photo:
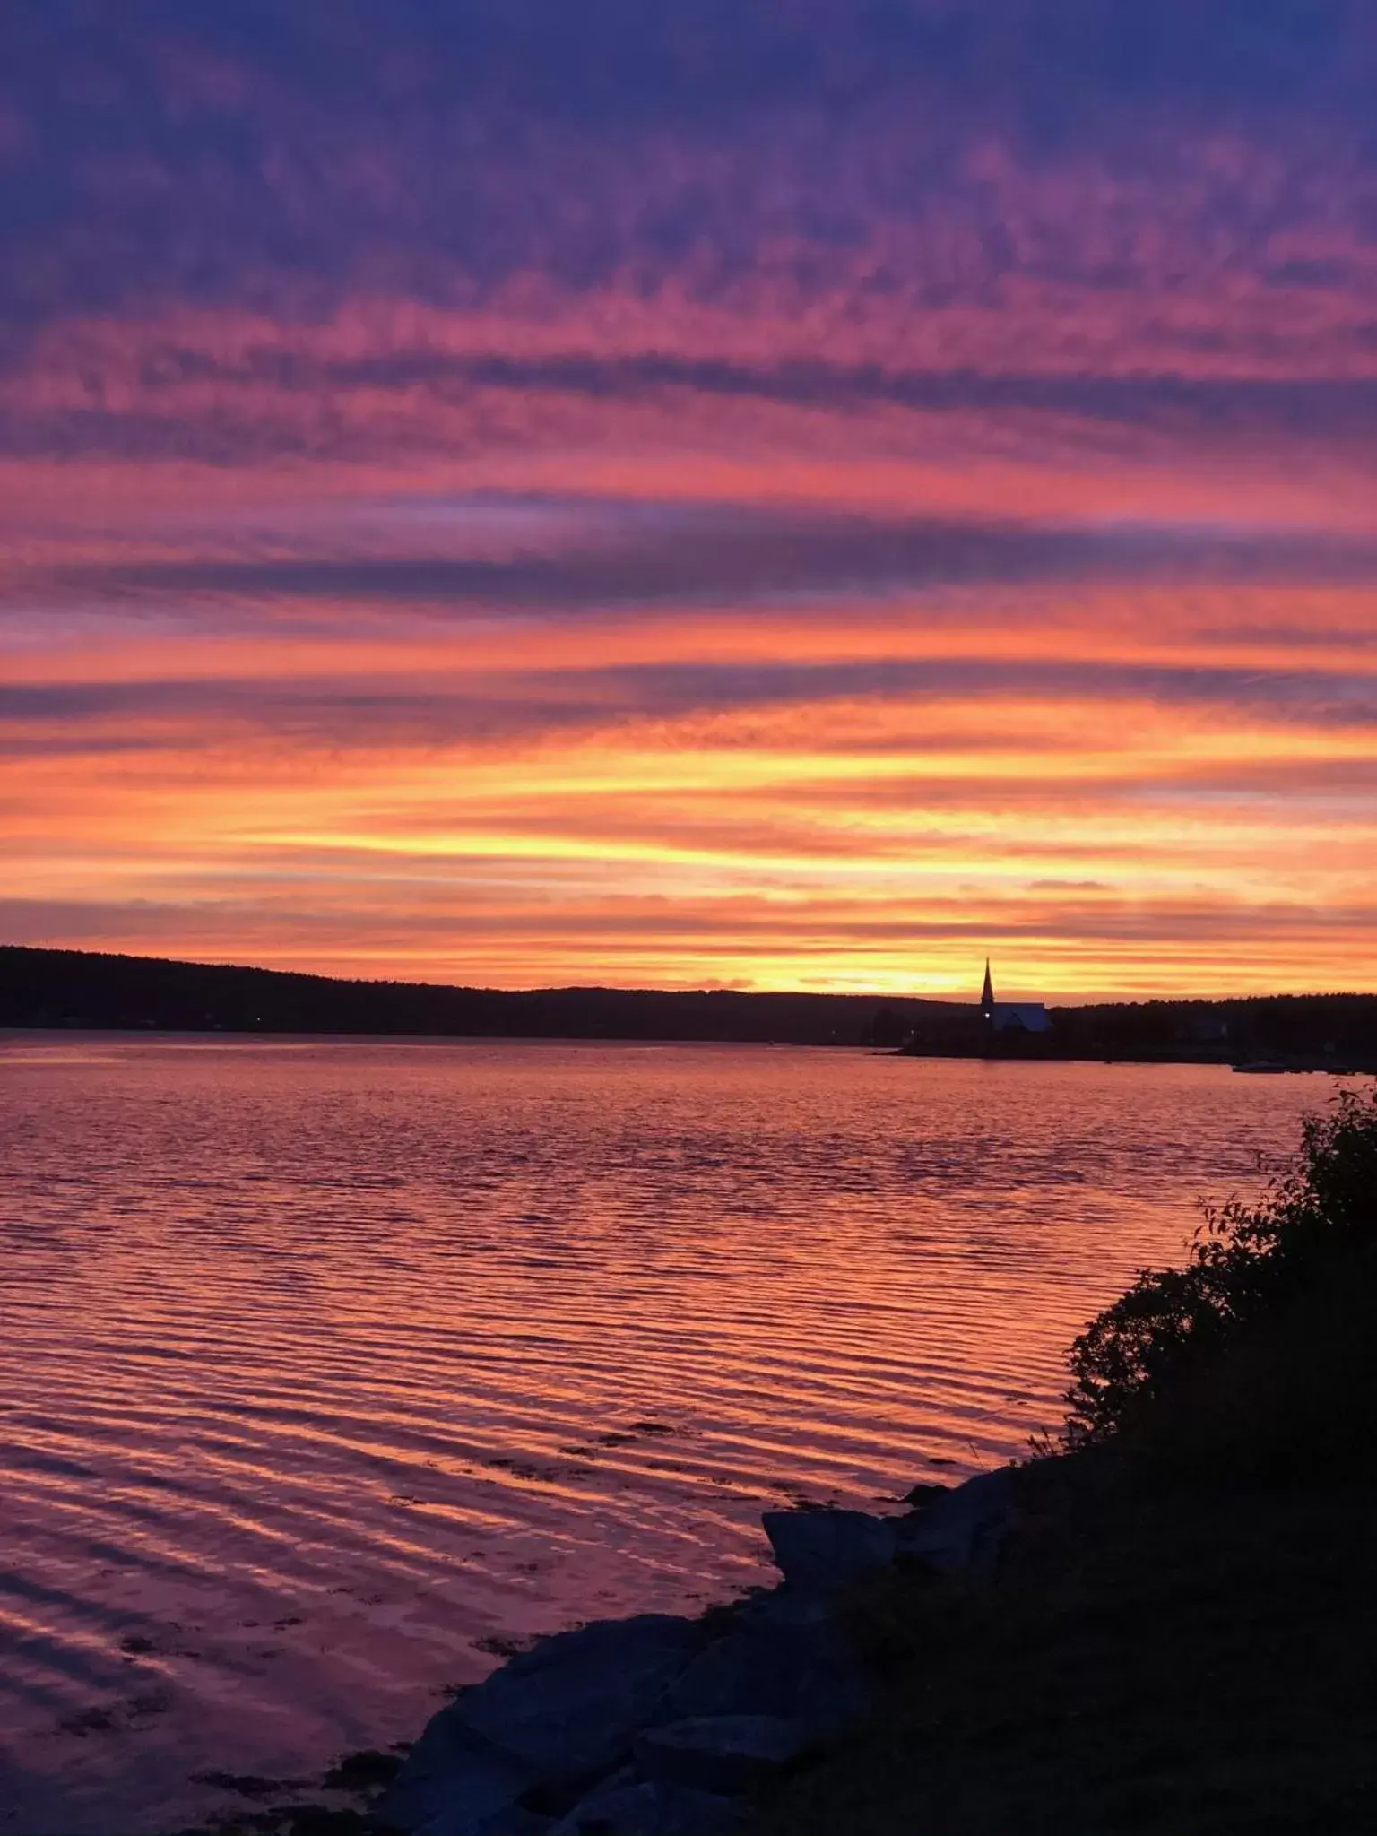
[[[406,1836],[718,1836],[872,1706],[839,1612],[868,1575],[988,1568],[1013,1471],[916,1487],[903,1517],[767,1511],[771,1590],[545,1638],[441,1709],[375,1818]]]

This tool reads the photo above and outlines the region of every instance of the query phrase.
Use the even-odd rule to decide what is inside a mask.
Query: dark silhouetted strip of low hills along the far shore
[[[991,1037],[979,1006],[729,988],[450,988],[0,946],[0,1028],[837,1045],[922,1058],[1377,1072],[1377,995],[1050,1008],[1048,1036]]]

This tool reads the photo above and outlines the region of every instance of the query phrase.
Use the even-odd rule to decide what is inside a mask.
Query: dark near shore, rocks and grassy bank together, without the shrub
[[[1370,1483],[1182,1487],[1107,1445],[920,1482],[892,1517],[766,1511],[775,1586],[538,1638],[404,1755],[343,1757],[332,1805],[180,1836],[894,1836],[938,1801],[942,1836],[1024,1836],[1048,1803],[1061,1836],[1256,1836],[1274,1790],[1269,1829],[1366,1829]],[[1282,1645],[1327,1772],[1291,1669],[1258,1663]]]

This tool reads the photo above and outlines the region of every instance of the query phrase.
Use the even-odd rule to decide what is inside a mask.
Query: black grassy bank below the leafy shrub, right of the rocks
[[[1377,1829],[1373,1496],[1024,1476],[982,1584],[857,1603],[867,1731],[751,1836],[1359,1836]]]

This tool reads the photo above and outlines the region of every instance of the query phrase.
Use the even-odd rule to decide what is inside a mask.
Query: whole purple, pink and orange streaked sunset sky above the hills
[[[1377,6],[13,0],[0,940],[1377,986]]]

